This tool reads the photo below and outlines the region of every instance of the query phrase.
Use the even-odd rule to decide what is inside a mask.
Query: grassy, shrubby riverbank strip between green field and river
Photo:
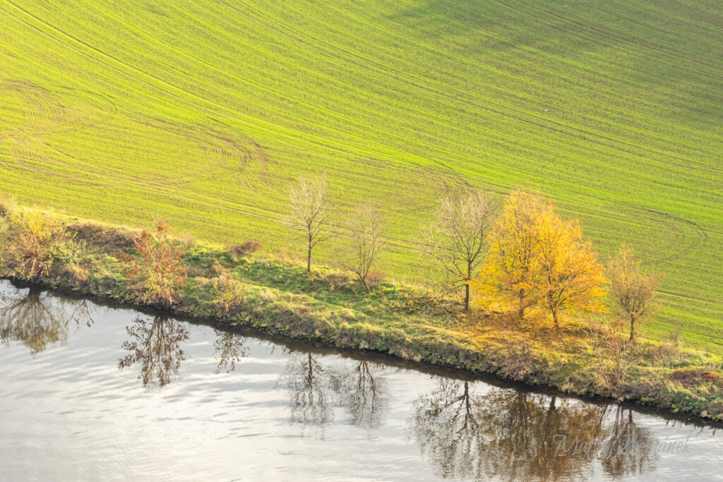
[[[26,211],[54,218],[64,236],[48,270],[24,281],[148,306],[119,261],[119,252],[134,252],[139,231]],[[9,212],[0,213],[0,277],[19,278],[8,253],[24,233]],[[309,273],[288,254],[189,238],[174,244],[184,250],[188,270],[179,299],[168,307],[174,314],[723,419],[721,358],[677,340],[640,340],[635,350],[616,352],[604,319],[568,319],[555,330],[534,311],[525,320],[484,309],[468,315],[457,299],[422,286],[376,280],[367,293],[347,272],[315,267]]]

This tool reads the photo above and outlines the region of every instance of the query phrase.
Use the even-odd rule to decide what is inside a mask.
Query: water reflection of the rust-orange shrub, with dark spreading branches
[[[188,340],[189,332],[184,324],[166,317],[154,317],[153,321],[137,317],[126,331],[131,340],[125,341],[123,348],[129,354],[119,360],[119,368],[140,363],[138,379],[144,387],[155,380],[160,387],[170,383],[186,359],[181,343]]]

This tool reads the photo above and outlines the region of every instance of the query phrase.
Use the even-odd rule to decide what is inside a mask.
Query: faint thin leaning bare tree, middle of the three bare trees
[[[382,236],[382,214],[369,205],[359,205],[351,215],[351,231],[348,269],[354,272],[364,290],[369,293],[367,275],[379,257]]]

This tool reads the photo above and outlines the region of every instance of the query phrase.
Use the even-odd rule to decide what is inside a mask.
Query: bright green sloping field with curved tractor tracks
[[[420,280],[446,187],[523,186],[666,274],[648,335],[721,353],[722,26],[715,0],[0,0],[0,192],[273,249],[326,171]]]

